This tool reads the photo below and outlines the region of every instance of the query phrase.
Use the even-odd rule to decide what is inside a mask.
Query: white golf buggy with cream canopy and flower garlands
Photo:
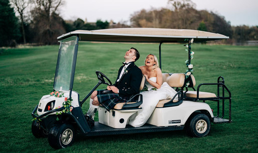
[[[53,92],[43,96],[34,108],[32,117],[32,134],[35,137],[48,137],[49,145],[54,149],[66,148],[74,142],[76,134],[84,136],[119,135],[147,132],[183,130],[193,137],[207,136],[211,123],[230,123],[231,92],[220,76],[216,83],[196,85],[191,74],[191,43],[208,40],[227,39],[229,37],[198,30],[161,29],[161,28],[117,28],[102,30],[76,30],[59,36],[59,53],[57,58]],[[159,43],[159,62],[161,66],[161,44],[187,42],[189,68],[187,73],[163,73],[163,82],[167,82],[178,93],[172,99],[161,100],[151,117],[142,127],[128,125],[130,117],[137,115],[144,99],[141,94],[135,102],[118,103],[112,110],[99,108],[99,121],[91,126],[82,112],[81,106],[100,84],[111,85],[111,81],[103,73],[96,71],[98,82],[88,95],[80,101],[79,94],[73,91],[75,65],[78,51],[78,41],[99,42],[145,42]],[[96,44],[97,45],[97,44]],[[145,77],[142,85],[145,84]],[[202,86],[216,86],[217,94],[200,91]],[[190,91],[191,89],[191,91]],[[193,89],[193,90],[192,90]],[[225,91],[226,90],[226,91]],[[225,92],[227,92],[225,96]],[[222,95],[220,95],[222,93]],[[229,100],[229,119],[224,119],[225,100]],[[218,104],[217,115],[205,103],[215,101]],[[222,115],[221,112],[222,102]]]

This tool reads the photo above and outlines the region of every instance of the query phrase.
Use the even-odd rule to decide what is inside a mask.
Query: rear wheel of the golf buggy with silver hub
[[[205,137],[210,131],[211,121],[205,114],[195,115],[186,125],[186,132],[191,137]]]

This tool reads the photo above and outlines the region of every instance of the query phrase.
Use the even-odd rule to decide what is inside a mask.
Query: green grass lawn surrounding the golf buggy
[[[74,90],[82,100],[97,84],[95,71],[113,82],[129,47],[139,49],[140,66],[148,53],[158,55],[158,44],[80,42]],[[224,76],[232,92],[231,124],[212,124],[205,138],[184,131],[85,138],[54,151],[46,138],[31,134],[31,112],[52,91],[57,45],[4,49],[0,54],[0,152],[254,152],[258,153],[258,46],[193,44],[192,64],[197,84]],[[162,44],[162,71],[182,73],[188,55],[182,44]],[[101,85],[100,88],[105,88]],[[99,89],[100,89],[99,88]],[[216,90],[204,87],[203,91]],[[88,109],[88,101],[83,112]],[[217,105],[209,102],[216,111]],[[226,103],[228,104],[228,103]],[[226,107],[228,108],[228,106]],[[228,116],[228,114],[226,114]]]

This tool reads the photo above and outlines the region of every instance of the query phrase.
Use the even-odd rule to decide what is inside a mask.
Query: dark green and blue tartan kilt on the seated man
[[[118,103],[125,103],[130,100],[134,95],[130,97],[120,97],[119,94],[116,93],[103,93],[105,90],[97,90],[98,102],[101,104],[107,111],[110,111],[115,107]],[[134,101],[132,99],[131,101]]]

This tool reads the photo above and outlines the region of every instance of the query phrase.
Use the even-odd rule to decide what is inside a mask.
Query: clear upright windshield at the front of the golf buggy
[[[73,56],[77,37],[71,36],[60,42],[58,59],[55,70],[54,90],[69,91],[72,77]]]

